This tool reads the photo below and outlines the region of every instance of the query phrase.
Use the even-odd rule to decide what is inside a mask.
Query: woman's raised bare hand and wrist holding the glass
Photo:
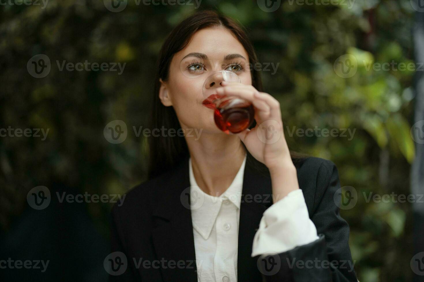
[[[251,101],[257,125],[237,133],[248,151],[265,164],[271,174],[273,196],[276,200],[298,189],[296,168],[283,131],[279,102],[268,93],[259,92],[252,85],[222,82],[217,88],[220,95],[237,96]]]

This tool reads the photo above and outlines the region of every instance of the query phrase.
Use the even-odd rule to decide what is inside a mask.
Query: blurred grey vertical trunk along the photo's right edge
[[[417,0],[422,1],[422,0]],[[424,12],[416,12],[416,22],[413,31],[414,44],[415,44],[415,60],[416,63],[424,63]],[[419,65],[417,65],[419,66]],[[423,71],[416,72],[415,80],[416,91],[416,104],[415,115],[413,124],[424,120],[424,75]],[[415,127],[415,126],[414,126]],[[418,134],[424,134],[424,126],[419,124],[418,131],[413,129],[415,140],[420,140]],[[422,143],[422,142],[421,142]],[[424,144],[415,142],[416,145],[416,158],[412,165],[411,171],[411,193],[424,194]],[[419,199],[417,197],[416,199]],[[424,204],[413,203],[413,216],[414,216],[414,250],[413,255],[424,251]],[[421,259],[422,256],[419,257]],[[421,266],[422,267],[422,266]],[[415,271],[417,272],[417,271]],[[419,271],[418,273],[420,273]],[[422,275],[422,272],[420,273]],[[415,275],[413,281],[422,281],[423,277]]]

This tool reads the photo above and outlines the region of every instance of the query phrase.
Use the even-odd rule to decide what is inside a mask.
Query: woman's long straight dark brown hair
[[[254,66],[255,63],[258,62],[253,45],[246,31],[242,25],[238,24],[234,19],[220,15],[212,10],[198,11],[192,16],[184,19],[171,31],[159,52],[158,67],[156,68],[157,72],[154,82],[153,105],[151,107],[151,128],[162,128],[163,126],[165,129],[175,129],[176,132],[181,132],[181,126],[174,108],[165,107],[159,99],[159,78],[163,81],[168,79],[169,66],[173,55],[188,45],[196,31],[207,27],[223,27],[231,31],[246,50],[249,57],[249,63]],[[262,80],[256,68],[251,68],[251,78],[252,85],[257,90],[262,91]],[[256,122],[254,122],[250,128],[254,126],[256,126]],[[187,142],[184,136],[179,135],[181,134],[175,134],[175,137],[164,137],[161,135],[148,139],[148,179],[154,178],[172,169],[178,162],[189,155]],[[250,156],[250,154],[248,155]]]

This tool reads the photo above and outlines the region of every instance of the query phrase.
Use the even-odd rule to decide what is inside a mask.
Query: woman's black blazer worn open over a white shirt
[[[250,256],[259,221],[272,204],[272,187],[269,171],[257,169],[254,164],[259,162],[250,153],[247,158],[240,205],[238,281],[357,281],[350,267],[349,225],[334,200],[340,188],[338,171],[333,162],[321,158],[295,162],[299,186],[319,239],[278,255]],[[131,189],[121,206],[114,205],[112,252],[122,253],[113,253],[109,262],[116,270],[114,274],[126,270],[111,275],[110,281],[197,282],[190,199],[184,195],[187,187],[188,156],[174,169]]]

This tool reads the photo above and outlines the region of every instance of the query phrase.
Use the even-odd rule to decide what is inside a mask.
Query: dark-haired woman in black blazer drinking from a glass
[[[111,280],[357,281],[334,200],[337,169],[290,155],[279,103],[249,67],[257,62],[243,29],[214,11],[170,33],[151,125],[169,134],[150,139],[149,180],[112,209]],[[223,133],[202,104],[203,83],[218,70],[240,78],[211,85],[251,101],[250,129]],[[272,142],[263,125],[273,126]]]

